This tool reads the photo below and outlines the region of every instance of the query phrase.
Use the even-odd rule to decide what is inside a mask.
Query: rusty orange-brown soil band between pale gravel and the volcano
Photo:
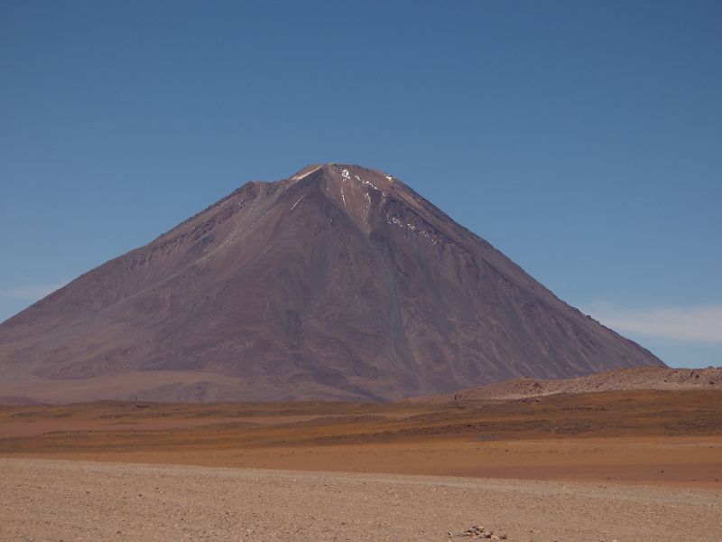
[[[0,456],[722,488],[722,393],[0,407]]]

